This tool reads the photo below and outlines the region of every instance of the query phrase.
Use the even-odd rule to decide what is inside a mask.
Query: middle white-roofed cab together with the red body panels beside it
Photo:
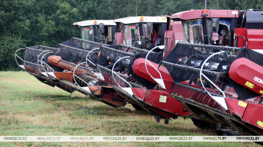
[[[181,22],[173,21],[171,16],[138,16],[115,19],[117,32],[115,44],[124,44],[135,48],[164,52],[165,58],[177,42],[183,41]],[[149,27],[147,27],[149,26]]]

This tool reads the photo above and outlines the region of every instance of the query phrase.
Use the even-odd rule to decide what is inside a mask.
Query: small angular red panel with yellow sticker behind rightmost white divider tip
[[[240,101],[237,99],[229,99],[229,98],[225,98],[225,101],[228,105],[228,108],[229,108],[231,114],[239,116],[240,118],[242,118],[242,116],[243,116],[243,114],[247,108],[248,102]]]

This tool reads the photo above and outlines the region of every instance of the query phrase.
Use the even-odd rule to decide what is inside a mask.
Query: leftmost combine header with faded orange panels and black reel
[[[95,96],[114,107],[124,106],[125,99],[121,98],[107,83],[102,82],[98,76],[93,75],[92,67],[97,63],[98,49],[102,45],[72,38],[59,44],[57,48],[40,46],[43,49],[52,49],[52,51],[37,50],[37,52],[35,49],[35,52],[32,52],[32,47],[26,48],[31,50],[26,51],[24,60],[19,57],[23,61],[19,66],[25,67],[31,75],[53,87],[57,86],[68,92],[76,90],[85,95]],[[30,61],[31,66],[34,66],[26,66],[28,64],[26,60]],[[38,72],[39,69],[41,72]]]

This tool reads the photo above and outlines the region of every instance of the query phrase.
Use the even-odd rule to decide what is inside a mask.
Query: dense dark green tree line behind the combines
[[[258,0],[1,0],[0,71],[19,70],[18,48],[80,37],[74,22],[128,16],[171,15],[190,9],[262,9]],[[21,55],[23,56],[23,55]]]

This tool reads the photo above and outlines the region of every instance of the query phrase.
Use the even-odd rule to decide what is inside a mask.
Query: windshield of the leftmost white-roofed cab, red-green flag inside
[[[98,26],[95,25],[80,27],[80,32],[83,40],[99,43],[103,43],[105,40],[105,36],[98,33]]]

